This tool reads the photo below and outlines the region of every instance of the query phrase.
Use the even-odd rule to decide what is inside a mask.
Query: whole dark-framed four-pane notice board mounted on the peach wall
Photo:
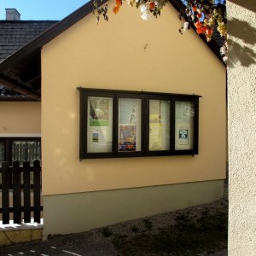
[[[80,90],[80,159],[198,154],[195,95]]]

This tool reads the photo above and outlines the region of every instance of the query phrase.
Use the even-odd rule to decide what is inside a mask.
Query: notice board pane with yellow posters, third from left
[[[149,151],[170,149],[170,101],[149,101]]]

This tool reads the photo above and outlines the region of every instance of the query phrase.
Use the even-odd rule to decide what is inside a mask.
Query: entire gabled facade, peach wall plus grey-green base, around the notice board
[[[42,49],[45,236],[88,230],[222,196],[226,171],[224,65],[195,32],[178,33],[180,23],[171,4],[160,19],[148,22],[126,4],[118,15],[109,13],[109,21],[101,20],[98,26],[96,16],[87,15]],[[199,154],[80,161],[79,86],[201,95]],[[210,186],[204,185],[209,182]],[[175,189],[186,183],[190,189],[195,184],[191,191],[197,200],[183,199],[186,186]],[[156,192],[159,190],[167,194]],[[134,191],[140,201],[131,199]],[[175,205],[171,195],[175,201],[182,200],[182,206]],[[159,206],[163,198],[169,202],[167,207]],[[69,207],[64,217],[65,199]],[[154,207],[127,214],[143,201],[149,206],[150,200]],[[96,202],[102,207],[95,207]],[[74,215],[78,221],[85,218],[84,223],[68,224]],[[101,220],[93,221],[96,217]]]

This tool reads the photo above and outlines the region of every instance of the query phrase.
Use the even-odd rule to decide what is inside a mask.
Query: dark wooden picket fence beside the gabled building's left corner
[[[24,223],[30,223],[32,218],[34,222],[40,223],[41,211],[41,166],[40,161],[13,162],[9,166],[8,162],[3,162],[0,167],[2,177],[2,206],[0,213],[3,216],[3,224],[9,224],[10,214],[13,213],[15,224],[21,224],[21,218]],[[12,200],[11,194],[13,195]],[[33,198],[33,203],[32,203]]]

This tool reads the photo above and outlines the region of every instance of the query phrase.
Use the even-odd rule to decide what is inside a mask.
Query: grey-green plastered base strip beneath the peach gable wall
[[[224,181],[44,196],[43,235],[68,234],[219,199]],[[58,206],[58,207],[56,207]],[[63,214],[65,212],[65,214]]]

